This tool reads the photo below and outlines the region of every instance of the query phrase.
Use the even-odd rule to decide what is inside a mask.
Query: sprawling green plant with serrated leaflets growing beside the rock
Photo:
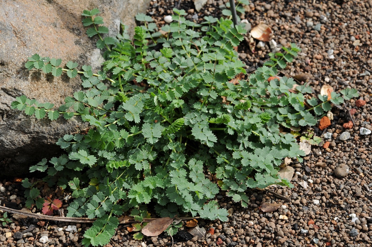
[[[183,17],[184,10],[173,12],[174,22],[161,32],[151,17],[138,15],[143,25],[135,28],[132,42],[125,34],[102,38],[107,30],[97,27],[103,23],[95,16],[99,11],[85,10],[83,23],[93,26],[87,34],[97,35],[97,46],[106,47],[97,74],[86,65],[77,71],[74,62],[58,67],[60,60],[37,54],[26,63],[30,70],[54,76],[80,74],[86,89],[66,97],[58,110],[25,96],[12,103],[13,109],[36,118],[80,116],[89,123],[86,134],[58,140],[66,154],[30,169],[47,172],[50,186],[70,188],[74,201],[67,216],[97,218],[84,234],[84,245],[108,243],[118,225],[116,216],[132,209],[143,219],[143,205],[153,205],[161,217],[190,214],[225,221],[227,211],[214,200],[219,187],[245,207],[249,188],[292,186],[278,177],[279,166],[285,157],[301,161],[304,152],[294,135],[280,132],[279,126],[315,125],[331,103],[343,100],[336,93],[330,100],[305,100],[311,94],[308,86],[293,89],[292,78],[268,80],[278,73],[276,65],[283,67],[282,61],[295,57],[299,49],[294,44],[285,54],[274,54],[272,64],[248,80],[231,83],[246,73],[234,50],[246,30],[229,19],[204,17],[196,24]],[[26,205],[41,208],[38,190],[28,179],[23,183]],[[167,231],[173,234],[176,227]]]

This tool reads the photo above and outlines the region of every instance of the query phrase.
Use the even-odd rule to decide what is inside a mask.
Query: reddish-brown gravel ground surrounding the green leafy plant
[[[171,9],[185,9],[188,19],[218,16],[227,0],[208,0],[197,13],[191,0],[151,1],[148,14],[161,25]],[[266,191],[248,191],[248,208],[231,203],[221,193],[221,206],[229,209],[228,222],[199,221],[207,232],[198,239],[184,231],[174,237],[173,246],[372,246],[372,1],[252,1],[246,15],[252,26],[265,22],[272,27],[278,45],[296,43],[302,52],[284,71],[288,76],[305,73],[315,92],[329,81],[336,92],[356,88],[360,99],[350,100],[345,109],[333,108],[331,125],[320,133],[329,147],[313,146],[303,164],[293,164],[293,189],[272,188],[286,196],[281,200]],[[270,52],[269,43],[252,54],[243,44],[238,48],[247,70],[262,65]],[[350,110],[350,113],[349,113]],[[351,119],[353,118],[353,119]],[[344,124],[354,121],[353,126]],[[364,133],[365,134],[365,133]],[[305,183],[306,182],[306,183]],[[19,204],[19,183],[0,183],[0,200]],[[274,212],[262,212],[263,203],[282,203]],[[15,219],[0,228],[0,246],[81,246],[84,229],[89,225],[58,224],[36,219]],[[34,227],[32,227],[34,225]],[[172,246],[166,235],[135,241],[120,225],[108,246]],[[187,227],[185,227],[185,230]],[[213,230],[214,229],[214,234]],[[25,232],[26,231],[26,232]],[[146,244],[144,244],[144,242]],[[141,245],[142,244],[142,245]]]

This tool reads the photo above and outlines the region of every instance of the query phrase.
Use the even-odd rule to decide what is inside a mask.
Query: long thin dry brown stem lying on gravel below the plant
[[[77,217],[58,217],[58,216],[49,216],[49,215],[42,215],[42,214],[34,214],[34,213],[28,213],[28,212],[23,212],[17,209],[12,209],[12,208],[7,208],[4,206],[0,206],[0,210],[3,210],[5,212],[9,212],[12,214],[19,214],[19,215],[24,215],[32,218],[37,218],[37,219],[47,219],[47,220],[52,220],[52,221],[64,221],[64,222],[76,222],[76,223],[93,223],[96,218],[94,219],[88,219],[88,218],[77,218]],[[199,219],[200,217],[180,217],[178,219],[181,220],[188,220],[188,219]],[[159,218],[150,218],[150,219],[143,219],[144,222],[150,222],[155,219]],[[136,223],[138,221],[135,220],[129,220],[126,221],[125,224],[128,223]]]

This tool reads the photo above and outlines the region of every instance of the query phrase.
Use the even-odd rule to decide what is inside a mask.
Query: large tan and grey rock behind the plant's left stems
[[[10,109],[15,97],[25,94],[39,102],[58,107],[66,96],[80,90],[79,78],[54,78],[36,70],[28,71],[25,62],[31,55],[61,58],[87,64],[93,71],[103,58],[96,39],[86,36],[81,12],[99,8],[110,35],[119,31],[122,20],[133,33],[134,15],[145,12],[150,0],[43,0],[1,1],[0,9],[0,177],[28,173],[29,166],[58,155],[54,143],[64,134],[82,128],[79,119],[50,122],[37,120]]]

